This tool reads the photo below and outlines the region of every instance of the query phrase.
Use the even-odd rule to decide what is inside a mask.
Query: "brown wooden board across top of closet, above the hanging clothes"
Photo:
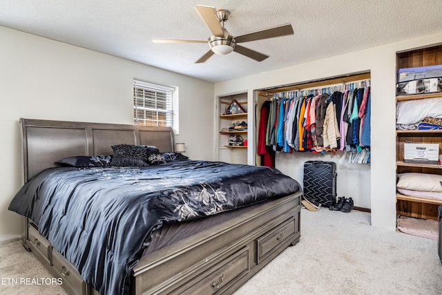
[[[290,86],[283,86],[278,88],[262,89],[262,90],[265,90],[267,93],[280,93],[280,92],[296,91],[304,88],[320,88],[321,86],[327,86],[331,84],[350,83],[358,80],[367,80],[367,79],[371,79],[371,74],[369,72],[359,73],[354,75],[345,75],[330,79],[317,80],[314,82],[305,82]]]

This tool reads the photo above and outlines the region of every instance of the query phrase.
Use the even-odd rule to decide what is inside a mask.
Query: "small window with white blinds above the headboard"
[[[174,87],[133,81],[133,122],[145,126],[171,126],[177,133],[177,91]]]

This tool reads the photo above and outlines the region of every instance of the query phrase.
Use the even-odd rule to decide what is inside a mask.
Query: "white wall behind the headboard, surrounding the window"
[[[134,77],[178,86],[176,140],[190,158],[213,160],[212,83],[1,26],[0,39],[0,243],[21,234],[8,211],[23,179],[20,117],[133,124]],[[207,111],[195,114],[196,104]]]

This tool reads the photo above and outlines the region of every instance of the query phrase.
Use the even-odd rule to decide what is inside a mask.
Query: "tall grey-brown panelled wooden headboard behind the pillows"
[[[24,180],[74,155],[112,155],[115,144],[148,144],[175,151],[169,127],[20,119]]]

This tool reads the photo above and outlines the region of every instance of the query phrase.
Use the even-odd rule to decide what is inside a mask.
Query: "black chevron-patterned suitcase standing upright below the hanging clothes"
[[[307,161],[304,163],[304,198],[326,207],[336,202],[336,163]]]

